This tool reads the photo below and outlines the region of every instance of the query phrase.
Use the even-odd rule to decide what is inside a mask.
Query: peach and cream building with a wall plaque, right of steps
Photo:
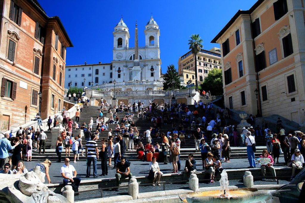
[[[304,19],[303,0],[259,0],[217,34],[226,107],[305,122]]]

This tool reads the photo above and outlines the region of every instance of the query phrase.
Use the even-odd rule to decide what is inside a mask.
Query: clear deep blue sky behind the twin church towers
[[[121,15],[135,44],[138,20],[139,46],[145,46],[144,29],[152,16],[160,28],[162,72],[188,51],[188,39],[198,33],[204,49],[219,47],[210,41],[239,10],[248,10],[257,0],[218,1],[65,1],[38,0],[49,17],[59,16],[74,47],[67,48],[66,65],[94,64],[112,60],[113,28]],[[85,2],[85,3],[84,3]]]

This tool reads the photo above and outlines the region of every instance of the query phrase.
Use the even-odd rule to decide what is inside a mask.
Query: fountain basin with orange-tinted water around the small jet
[[[228,197],[223,197],[223,191],[213,190],[205,192],[191,192],[179,195],[183,202],[234,202],[254,203],[263,202],[272,198],[269,191],[259,191],[257,188],[240,188],[230,190]]]

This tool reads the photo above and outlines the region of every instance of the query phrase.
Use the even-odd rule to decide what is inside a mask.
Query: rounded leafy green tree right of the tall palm
[[[222,72],[221,69],[214,68],[209,71],[208,76],[200,85],[202,90],[211,91],[213,95],[222,95],[224,89],[222,88]]]

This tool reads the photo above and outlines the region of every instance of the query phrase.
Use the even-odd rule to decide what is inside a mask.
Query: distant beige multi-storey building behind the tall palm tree
[[[221,68],[220,49],[214,47],[210,51],[204,49],[199,51],[197,55],[197,81],[199,85],[213,68]],[[181,77],[181,81],[183,78],[185,85],[190,79],[195,84],[195,59],[192,51],[189,51],[179,58],[178,72],[179,75],[183,76]]]

